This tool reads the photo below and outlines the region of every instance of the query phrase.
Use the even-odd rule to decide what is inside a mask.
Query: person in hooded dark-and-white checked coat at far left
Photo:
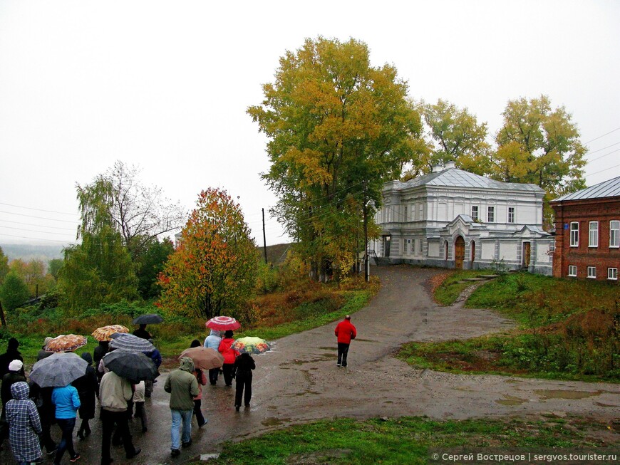
[[[29,399],[30,388],[24,381],[11,385],[13,399],[6,402],[6,421],[9,423],[11,451],[19,465],[28,465],[41,459],[41,421],[36,405]]]

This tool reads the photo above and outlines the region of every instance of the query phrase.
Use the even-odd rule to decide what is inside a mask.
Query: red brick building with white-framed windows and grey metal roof
[[[553,276],[618,283],[620,177],[550,202],[555,211]]]

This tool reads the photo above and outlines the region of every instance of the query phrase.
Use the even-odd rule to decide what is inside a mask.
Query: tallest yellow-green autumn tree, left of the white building
[[[272,209],[297,250],[324,276],[346,268],[351,235],[369,200],[381,200],[386,179],[418,163],[420,115],[408,85],[391,65],[373,67],[368,46],[350,39],[306,39],[280,58],[262,105],[248,108],[269,137],[263,179],[279,197]],[[351,220],[353,216],[354,220]],[[346,249],[330,246],[339,242]]]

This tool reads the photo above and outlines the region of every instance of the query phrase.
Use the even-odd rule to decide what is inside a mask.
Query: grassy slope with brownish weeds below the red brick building
[[[452,296],[454,283],[467,273],[445,273],[443,283],[435,283],[435,296]],[[447,372],[620,382],[619,301],[619,287],[609,283],[503,275],[477,287],[463,311],[490,308],[517,320],[519,330],[410,343],[398,357]]]

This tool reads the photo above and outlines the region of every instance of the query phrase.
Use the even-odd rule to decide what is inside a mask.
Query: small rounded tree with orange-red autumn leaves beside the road
[[[257,260],[239,204],[222,190],[202,191],[160,274],[159,305],[204,318],[234,313],[252,291]]]

